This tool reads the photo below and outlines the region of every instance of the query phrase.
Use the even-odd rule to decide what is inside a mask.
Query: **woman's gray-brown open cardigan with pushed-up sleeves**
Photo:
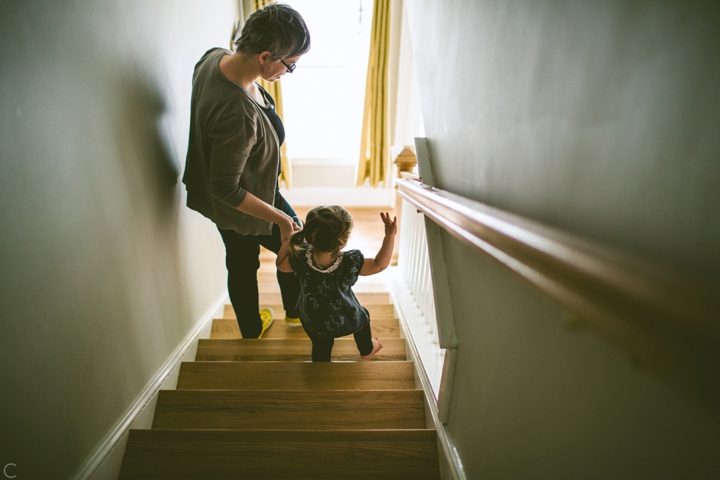
[[[220,71],[228,50],[208,50],[195,65],[183,183],[187,206],[223,230],[269,235],[272,223],[236,209],[247,192],[273,205],[280,146],[250,94]]]

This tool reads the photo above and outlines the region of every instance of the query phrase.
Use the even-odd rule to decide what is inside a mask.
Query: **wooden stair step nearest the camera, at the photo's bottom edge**
[[[439,479],[434,430],[132,430],[120,479]]]

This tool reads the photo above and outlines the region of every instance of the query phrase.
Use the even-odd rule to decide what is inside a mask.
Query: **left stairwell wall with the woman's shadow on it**
[[[0,5],[0,466],[67,478],[225,289],[184,206],[192,69],[234,0]]]

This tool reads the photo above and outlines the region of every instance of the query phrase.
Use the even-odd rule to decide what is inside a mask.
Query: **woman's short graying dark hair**
[[[310,50],[310,32],[292,7],[268,5],[247,19],[240,38],[235,40],[235,50],[243,55],[270,52],[272,60],[282,60]]]

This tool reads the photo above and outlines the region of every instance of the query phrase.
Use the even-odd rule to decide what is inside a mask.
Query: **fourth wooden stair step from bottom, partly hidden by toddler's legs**
[[[402,338],[386,338],[382,340],[383,348],[369,361],[407,360],[405,340]],[[198,342],[195,360],[198,361],[243,361],[243,360],[274,360],[274,361],[309,361],[312,343],[309,338],[263,338],[258,339],[201,339]],[[360,360],[355,340],[338,338],[332,351],[333,360]]]

